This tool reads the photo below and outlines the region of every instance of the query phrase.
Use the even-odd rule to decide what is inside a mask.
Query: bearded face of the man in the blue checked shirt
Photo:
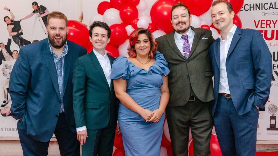
[[[51,46],[60,49],[67,40],[68,28],[64,19],[51,18],[46,26],[47,35]]]

